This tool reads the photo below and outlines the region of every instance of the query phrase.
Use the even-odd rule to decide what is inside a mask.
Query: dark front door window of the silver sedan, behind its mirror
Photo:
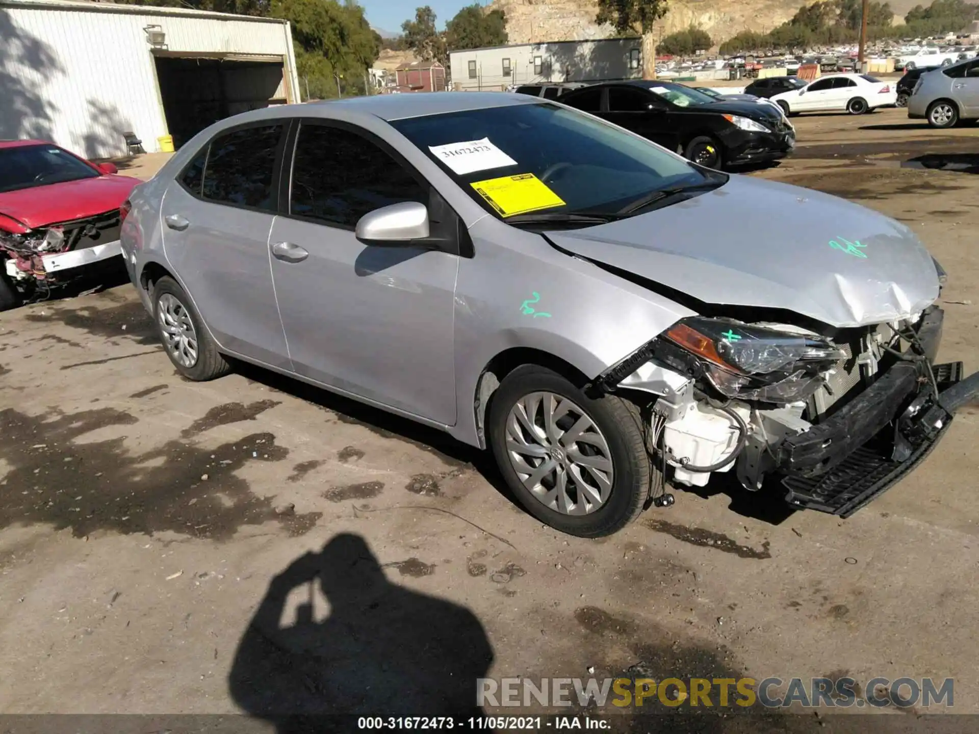
[[[353,229],[368,211],[428,203],[428,191],[375,143],[350,130],[303,124],[296,142],[290,213]]]

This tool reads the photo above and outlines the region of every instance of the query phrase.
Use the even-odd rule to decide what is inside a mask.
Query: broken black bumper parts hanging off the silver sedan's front
[[[929,363],[941,338],[942,311],[925,314],[919,339]],[[945,435],[957,408],[979,397],[979,373],[962,380],[960,362],[894,364],[853,402],[779,448],[785,500],[847,518],[924,460]]]

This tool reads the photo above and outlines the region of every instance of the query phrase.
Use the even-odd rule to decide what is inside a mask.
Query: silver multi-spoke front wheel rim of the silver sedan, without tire
[[[615,480],[608,441],[583,409],[554,392],[531,392],[510,408],[506,449],[517,477],[545,507],[588,515]]]

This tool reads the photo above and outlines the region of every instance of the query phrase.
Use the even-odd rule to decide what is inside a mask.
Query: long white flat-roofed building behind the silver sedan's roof
[[[453,51],[452,87],[504,89],[547,81],[613,81],[642,78],[640,38],[550,41]]]

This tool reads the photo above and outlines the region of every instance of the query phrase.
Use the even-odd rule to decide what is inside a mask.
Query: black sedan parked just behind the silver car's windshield
[[[607,82],[560,101],[710,168],[777,161],[795,148],[795,130],[770,105],[717,101],[682,84]]]

